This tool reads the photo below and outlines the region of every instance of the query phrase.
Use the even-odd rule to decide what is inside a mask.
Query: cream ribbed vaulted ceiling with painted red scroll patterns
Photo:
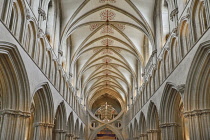
[[[124,103],[134,96],[154,47],[154,5],[155,0],[61,1],[62,44],[70,47],[72,84],[84,103],[103,94]]]

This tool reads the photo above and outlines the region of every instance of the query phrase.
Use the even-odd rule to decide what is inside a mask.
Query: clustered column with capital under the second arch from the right
[[[178,140],[179,131],[177,127],[180,127],[177,123],[164,123],[160,125],[161,128],[161,140]],[[182,136],[182,135],[180,135]]]

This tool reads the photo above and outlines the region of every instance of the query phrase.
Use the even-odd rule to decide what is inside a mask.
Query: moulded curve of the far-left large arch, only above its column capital
[[[0,42],[2,108],[29,111],[30,93],[27,72],[14,44]],[[22,81],[21,84],[19,81]],[[13,88],[11,88],[13,86]],[[7,94],[5,94],[7,93]]]

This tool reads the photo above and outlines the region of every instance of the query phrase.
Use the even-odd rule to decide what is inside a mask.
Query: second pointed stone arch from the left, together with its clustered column
[[[30,132],[33,133],[32,138],[52,139],[54,102],[48,83],[43,83],[35,89],[33,103],[34,112],[31,113],[34,114],[34,119],[30,119],[33,120],[30,122],[33,124],[31,125],[33,132]]]

